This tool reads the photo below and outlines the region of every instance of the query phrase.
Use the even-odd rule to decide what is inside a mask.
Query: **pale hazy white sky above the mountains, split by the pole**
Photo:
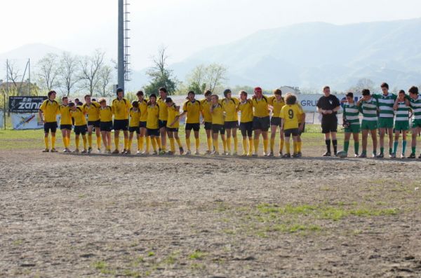
[[[260,29],[300,22],[418,18],[419,0],[128,0],[133,69],[151,65],[160,46],[169,62],[236,41]],[[2,0],[0,53],[45,43],[86,55],[100,48],[116,59],[117,0]]]

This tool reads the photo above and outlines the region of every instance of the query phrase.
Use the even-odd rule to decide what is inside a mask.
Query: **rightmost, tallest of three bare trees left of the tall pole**
[[[88,90],[90,95],[93,95],[95,88],[98,88],[98,74],[104,64],[104,56],[105,52],[97,49],[92,56],[86,56],[80,62],[80,79],[82,81],[81,88]]]

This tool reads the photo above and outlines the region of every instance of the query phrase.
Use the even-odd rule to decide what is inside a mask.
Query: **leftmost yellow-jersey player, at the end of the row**
[[[46,148],[44,153],[51,151],[52,153],[57,152],[55,150],[55,132],[57,131],[57,114],[58,107],[60,106],[58,102],[55,101],[55,91],[48,92],[48,99],[46,99],[41,106],[39,106],[39,118],[44,123],[44,143]],[[48,146],[48,134],[51,131],[51,149]]]

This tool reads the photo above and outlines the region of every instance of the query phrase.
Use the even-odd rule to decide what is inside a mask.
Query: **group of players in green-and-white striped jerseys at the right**
[[[389,92],[389,85],[382,83],[382,94],[371,94],[370,90],[362,90],[363,97],[358,102],[354,100],[352,92],[348,92],[344,101],[344,152],[348,152],[349,139],[354,139],[354,153],[356,157],[367,157],[367,141],[370,134],[373,141],[373,157],[384,158],[384,138],[389,136],[389,156],[396,158],[399,137],[402,134],[401,158],[405,158],[406,138],[412,133],[411,153],[408,158],[415,158],[417,135],[421,132],[421,96],[418,88],[409,88],[409,95],[400,90],[398,95]],[[362,113],[363,119],[359,120]],[[410,118],[412,123],[410,125]],[[377,155],[377,129],[380,133],[380,153]],[[362,152],[359,155],[359,133],[362,133]],[[394,140],[393,140],[394,134]],[[421,155],[418,157],[421,159]]]

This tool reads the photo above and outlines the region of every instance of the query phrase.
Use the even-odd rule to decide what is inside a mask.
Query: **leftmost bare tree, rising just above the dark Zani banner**
[[[44,90],[52,90],[58,87],[58,55],[54,53],[48,53],[37,64],[38,78],[41,83],[41,88]]]

